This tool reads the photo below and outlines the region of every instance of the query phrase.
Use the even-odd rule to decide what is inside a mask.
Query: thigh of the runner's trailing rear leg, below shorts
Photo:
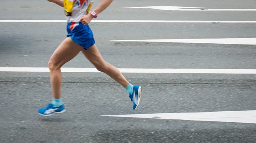
[[[82,53],[93,65],[102,65],[105,62],[95,44],[87,50],[82,50]]]

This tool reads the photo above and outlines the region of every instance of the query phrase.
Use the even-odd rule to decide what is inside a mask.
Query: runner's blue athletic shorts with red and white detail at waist
[[[89,25],[83,25],[81,22],[67,23],[67,37],[69,36],[71,36],[71,39],[85,50],[95,44],[93,31],[91,31]]]

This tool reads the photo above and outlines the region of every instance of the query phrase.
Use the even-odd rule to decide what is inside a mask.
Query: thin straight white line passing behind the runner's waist
[[[0,20],[0,22],[67,22],[66,20]],[[256,21],[216,21],[216,20],[92,20],[91,22],[128,23],[256,23]]]

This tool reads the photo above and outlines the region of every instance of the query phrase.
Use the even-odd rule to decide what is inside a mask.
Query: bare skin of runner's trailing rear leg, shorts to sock
[[[97,70],[106,73],[123,87],[128,86],[129,82],[125,79],[122,73],[120,73],[116,67],[104,61],[95,44],[88,48],[88,50],[82,50],[82,53],[97,68]]]

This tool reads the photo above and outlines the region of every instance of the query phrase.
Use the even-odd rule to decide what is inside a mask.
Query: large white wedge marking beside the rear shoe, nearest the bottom
[[[215,121],[235,123],[256,123],[256,110],[251,111],[222,111],[222,112],[189,112],[189,113],[160,113],[132,115],[102,115],[108,117],[154,118],[189,121]]]

